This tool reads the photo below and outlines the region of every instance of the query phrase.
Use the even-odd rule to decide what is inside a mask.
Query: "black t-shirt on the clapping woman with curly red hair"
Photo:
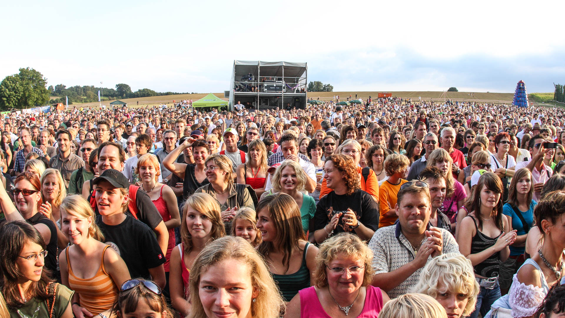
[[[315,230],[323,229],[331,220],[333,214],[353,210],[364,226],[376,231],[379,229],[379,208],[373,197],[363,190],[356,190],[351,195],[337,195],[335,191],[329,192],[320,199],[316,205],[314,214]],[[345,225],[343,215],[340,217],[333,233],[349,232],[355,234],[355,230]]]

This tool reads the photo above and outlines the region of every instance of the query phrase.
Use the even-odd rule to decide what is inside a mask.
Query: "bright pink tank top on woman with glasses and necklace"
[[[320,299],[316,294],[314,286],[298,291],[300,294],[300,317],[301,318],[332,318],[321,306]],[[376,318],[383,309],[383,295],[379,287],[367,286],[365,306],[357,318]]]

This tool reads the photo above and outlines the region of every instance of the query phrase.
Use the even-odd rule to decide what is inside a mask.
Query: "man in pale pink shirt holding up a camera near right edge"
[[[544,164],[545,154],[549,151],[555,150],[553,148],[545,149],[544,143],[550,143],[552,141],[553,140],[545,140],[541,135],[533,136],[528,143],[528,150],[532,154],[532,160],[520,161],[516,164],[516,166],[509,169],[518,171],[523,167],[527,167],[530,171],[532,171],[532,185],[534,187],[533,200],[535,201],[539,200],[538,197],[540,196],[541,189],[553,174],[551,167]]]

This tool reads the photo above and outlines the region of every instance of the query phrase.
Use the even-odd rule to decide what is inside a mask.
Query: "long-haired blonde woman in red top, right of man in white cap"
[[[255,139],[249,143],[247,160],[245,164],[237,166],[237,180],[242,184],[249,184],[257,197],[265,192],[267,181],[267,148],[263,141]]]

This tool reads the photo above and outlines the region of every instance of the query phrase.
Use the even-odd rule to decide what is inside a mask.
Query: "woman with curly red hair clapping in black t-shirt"
[[[359,189],[357,165],[350,156],[332,154],[324,165],[332,191],[322,197],[314,215],[314,238],[324,242],[333,234],[348,232],[370,239],[379,228],[379,210],[373,197]]]

